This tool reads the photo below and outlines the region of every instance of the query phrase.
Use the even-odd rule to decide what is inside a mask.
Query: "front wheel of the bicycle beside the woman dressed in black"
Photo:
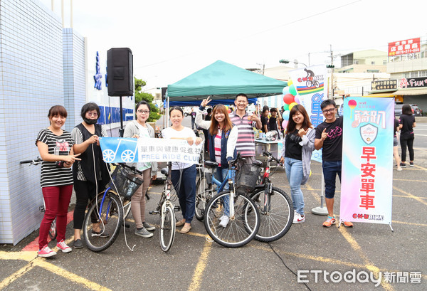
[[[120,198],[113,191],[108,191],[102,202],[103,194],[98,194],[92,203],[83,223],[83,235],[86,245],[94,252],[101,252],[114,243],[123,223],[123,208]],[[98,215],[97,213],[100,213]],[[93,223],[99,221],[100,232],[93,230]]]

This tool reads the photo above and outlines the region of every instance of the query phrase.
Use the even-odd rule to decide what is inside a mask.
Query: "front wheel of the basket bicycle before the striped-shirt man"
[[[249,243],[258,232],[260,214],[251,199],[238,195],[234,197],[234,217],[229,218],[226,227],[221,226],[221,218],[229,212],[223,201],[229,198],[230,191],[223,191],[209,201],[204,215],[204,225],[216,243],[227,248],[238,248]]]

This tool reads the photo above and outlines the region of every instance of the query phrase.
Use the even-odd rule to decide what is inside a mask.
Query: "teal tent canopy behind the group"
[[[186,78],[167,86],[169,101],[234,99],[238,93],[249,98],[282,94],[286,82],[265,77],[217,60]]]

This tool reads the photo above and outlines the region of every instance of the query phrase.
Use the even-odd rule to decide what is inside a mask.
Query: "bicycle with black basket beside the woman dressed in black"
[[[107,184],[107,189],[97,194],[90,202],[83,221],[83,237],[88,248],[96,253],[106,250],[115,242],[122,224],[125,224],[125,214],[128,215],[130,212],[130,197],[143,182],[130,172],[142,174],[142,171],[138,171],[135,167],[116,164],[116,169],[111,175],[112,181]],[[129,201],[126,210],[123,201]],[[94,224],[99,226],[100,231],[93,229]]]

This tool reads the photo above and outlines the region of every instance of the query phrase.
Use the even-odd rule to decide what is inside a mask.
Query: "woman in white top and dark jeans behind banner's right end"
[[[184,127],[181,123],[184,120],[184,111],[179,106],[174,106],[169,110],[172,127],[162,130],[165,139],[185,139],[190,145],[199,145],[202,142],[200,137],[196,137],[194,131],[189,127]],[[196,204],[196,165],[182,162],[172,162],[172,184],[176,190],[181,206],[182,219],[176,226],[184,226],[181,233],[188,233],[191,229],[195,204]]]

